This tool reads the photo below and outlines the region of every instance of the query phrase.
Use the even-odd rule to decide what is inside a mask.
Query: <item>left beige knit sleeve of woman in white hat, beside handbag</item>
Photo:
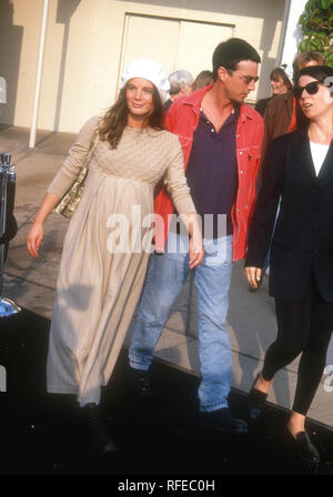
[[[80,174],[80,170],[84,165],[88,155],[89,146],[94,130],[97,129],[99,118],[91,118],[80,130],[75,142],[71,146],[67,159],[61,169],[52,180],[48,187],[48,193],[61,199],[68,189],[72,185]]]

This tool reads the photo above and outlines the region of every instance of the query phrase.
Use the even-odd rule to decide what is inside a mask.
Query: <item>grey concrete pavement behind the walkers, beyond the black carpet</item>
[[[51,317],[62,242],[68,220],[51,214],[38,260],[26,248],[26,236],[46,189],[61,166],[74,139],[70,133],[39,131],[37,146],[28,149],[29,130],[0,125],[0,152],[9,152],[16,163],[16,216],[19,231],[10,244],[4,268],[3,294],[17,304]],[[268,295],[268,277],[252,294],[242,274],[243,263],[234,264],[230,291],[229,332],[233,351],[234,387],[248,392],[262,367],[264,353],[276,333],[274,302]],[[131,329],[125,343],[129,344]],[[176,298],[158,344],[157,356],[199,374],[195,290],[189,278]],[[333,365],[331,342],[327,364]],[[333,366],[332,366],[333,369]],[[297,359],[278,373],[269,400],[290,408],[296,383]],[[332,392],[330,392],[332,389]],[[333,378],[324,375],[309,416],[333,429]]]

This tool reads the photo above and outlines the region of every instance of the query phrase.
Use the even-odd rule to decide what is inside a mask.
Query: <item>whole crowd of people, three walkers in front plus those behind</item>
[[[134,311],[129,381],[149,396],[155,345],[192,271],[198,429],[246,434],[262,417],[275,373],[301,354],[285,432],[302,457],[320,460],[305,417],[333,327],[333,70],[317,52],[296,57],[293,84],[275,68],[273,95],[256,112],[244,100],[260,63],[238,38],[221,42],[212,72],[195,79],[185,70],[167,78],[149,59],[132,62],[117,102],[83,125],[34,216],[27,243],[37,257],[48,215],[93,150],[63,244],[47,377],[48,392],[77,397],[99,453],[118,449],[99,404]],[[256,290],[270,250],[278,337],[239,419],[229,406],[232,266],[245,258],[245,281]]]

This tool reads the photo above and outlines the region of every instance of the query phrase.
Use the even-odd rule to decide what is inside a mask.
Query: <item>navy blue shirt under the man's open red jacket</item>
[[[226,233],[233,231],[231,209],[238,190],[235,133],[239,115],[240,108],[235,108],[216,133],[201,110],[186,168],[191,195],[202,222],[204,214],[213,214],[214,239],[218,236],[218,214],[226,214]]]

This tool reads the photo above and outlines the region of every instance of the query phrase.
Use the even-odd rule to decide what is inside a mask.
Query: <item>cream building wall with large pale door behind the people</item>
[[[8,104],[1,105],[6,124],[31,123],[42,3],[0,2],[0,74],[10,87]],[[230,33],[263,58],[251,101],[268,97],[283,8],[284,0],[50,0],[38,128],[77,132],[104,112],[121,69],[139,53],[162,59],[167,71],[211,69],[213,45]]]

